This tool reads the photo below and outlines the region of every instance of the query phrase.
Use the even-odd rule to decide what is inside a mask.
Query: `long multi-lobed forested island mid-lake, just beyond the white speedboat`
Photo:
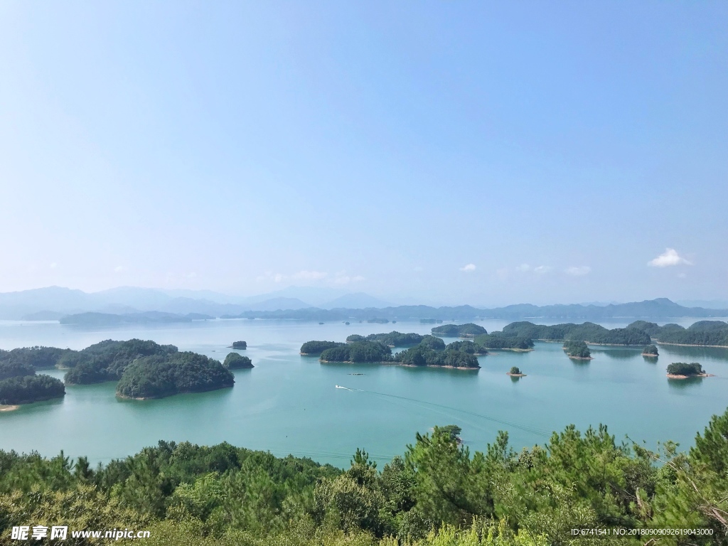
[[[416,341],[419,339],[419,342]],[[409,349],[392,354],[388,342],[399,341],[411,345]],[[347,343],[336,341],[306,341],[301,355],[320,354],[322,363],[378,363],[411,366],[437,366],[441,368],[480,368],[476,355],[485,355],[482,347],[472,341],[455,341],[446,345],[435,336],[415,333],[390,332],[347,338]]]

